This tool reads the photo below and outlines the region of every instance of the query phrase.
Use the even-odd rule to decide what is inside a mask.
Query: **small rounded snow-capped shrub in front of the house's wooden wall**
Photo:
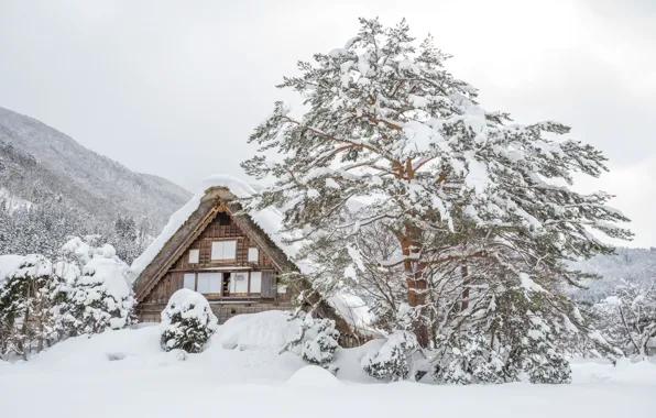
[[[179,349],[199,353],[217,331],[218,320],[203,295],[179,289],[162,311],[161,327],[161,344],[165,351]]]

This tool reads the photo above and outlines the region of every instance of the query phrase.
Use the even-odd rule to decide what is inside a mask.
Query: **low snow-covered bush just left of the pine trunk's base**
[[[362,369],[381,381],[401,381],[411,372],[408,359],[418,348],[417,339],[407,331],[392,333],[375,353],[368,353],[361,362]]]

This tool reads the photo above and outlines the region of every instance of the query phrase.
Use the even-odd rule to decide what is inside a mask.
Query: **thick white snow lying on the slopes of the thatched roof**
[[[183,206],[178,211],[173,213],[166,227],[162,230],[162,233],[153,241],[153,243],[132,263],[131,280],[134,283],[136,277],[151,264],[151,262],[157,256],[164,244],[175,234],[175,232],[186,222],[187,219],[198,209],[200,199],[205,196],[205,191],[210,187],[226,187],[231,194],[240,199],[249,198],[256,194],[253,186],[239,179],[237,177],[217,174],[209,176],[201,180],[201,191],[194,195],[194,197]],[[283,235],[280,233],[283,216],[275,208],[266,208],[258,212],[249,213],[253,221],[269,234],[273,242],[289,257],[291,260],[298,253],[300,246],[299,243],[285,244],[283,242]],[[298,268],[307,273],[309,266],[305,263],[297,264]]]

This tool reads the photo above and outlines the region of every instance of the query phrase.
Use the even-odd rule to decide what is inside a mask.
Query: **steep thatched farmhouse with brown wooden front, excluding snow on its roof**
[[[183,287],[204,294],[220,323],[234,315],[292,309],[293,294],[300,308],[334,319],[342,338],[358,338],[304,276],[296,275],[286,287],[278,284],[280,274],[294,272],[297,266],[242,211],[239,199],[226,187],[211,187],[136,278],[138,315],[142,321],[158,321],[170,297]]]

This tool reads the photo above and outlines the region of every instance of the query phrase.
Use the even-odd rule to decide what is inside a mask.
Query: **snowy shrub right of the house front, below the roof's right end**
[[[313,318],[311,314],[299,311],[303,322],[296,337],[287,342],[283,351],[292,351],[310,364],[337,372],[331,369],[335,351],[339,346],[339,331],[331,319]]]

